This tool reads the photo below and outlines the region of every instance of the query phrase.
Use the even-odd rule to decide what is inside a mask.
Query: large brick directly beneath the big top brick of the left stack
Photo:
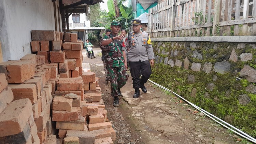
[[[29,98],[33,103],[37,101],[37,86],[35,84],[9,84],[14,100]]]

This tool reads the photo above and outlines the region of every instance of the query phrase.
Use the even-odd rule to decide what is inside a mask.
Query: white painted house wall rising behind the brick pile
[[[57,5],[58,0],[56,7]],[[3,61],[18,60],[31,53],[31,30],[55,30],[53,7],[52,0],[0,1],[0,43]]]

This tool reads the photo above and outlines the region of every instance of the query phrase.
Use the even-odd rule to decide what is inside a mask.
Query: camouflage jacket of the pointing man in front
[[[102,41],[112,38],[112,34],[105,35]],[[110,44],[106,45],[106,67],[116,68],[124,66],[123,52],[125,50],[125,45],[123,40],[120,40],[120,46],[117,42],[112,41]]]

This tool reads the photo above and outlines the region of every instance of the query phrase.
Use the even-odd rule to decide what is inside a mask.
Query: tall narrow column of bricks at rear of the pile
[[[66,62],[68,65],[69,77],[78,77],[82,75],[83,68],[83,41],[77,41],[76,33],[65,33],[65,43],[63,43],[63,51],[65,52]],[[75,61],[75,67],[74,67]],[[62,77],[62,76],[61,76]]]

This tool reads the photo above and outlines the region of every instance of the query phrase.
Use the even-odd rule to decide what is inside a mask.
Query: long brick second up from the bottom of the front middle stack
[[[85,124],[85,118],[81,116],[79,120],[57,121],[56,129],[84,130],[84,124]]]

